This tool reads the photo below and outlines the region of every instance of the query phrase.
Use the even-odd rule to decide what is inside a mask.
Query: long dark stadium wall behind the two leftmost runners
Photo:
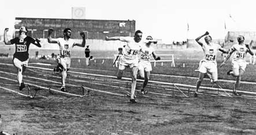
[[[79,39],[80,32],[86,33],[86,39],[103,40],[106,36],[133,36],[135,21],[129,20],[76,20],[58,18],[15,18],[15,29],[26,26],[28,36],[47,38],[47,30],[54,29],[53,38],[63,37],[63,30],[71,28],[72,38]],[[17,36],[18,32],[15,33]]]

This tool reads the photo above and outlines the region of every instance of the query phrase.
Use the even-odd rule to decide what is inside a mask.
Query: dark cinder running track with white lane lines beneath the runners
[[[139,102],[133,104],[124,96],[129,80],[69,73],[70,94],[82,95],[82,85],[90,89],[90,97],[76,97],[58,92],[59,73],[28,68],[24,82],[32,92],[41,87],[36,98],[28,98],[1,88],[28,94],[27,87],[18,90],[14,66],[0,66],[1,128],[10,134],[256,134],[253,96],[224,97],[202,90],[193,98],[193,89],[188,93],[188,88],[180,88],[185,98],[173,86],[149,83],[151,93],[137,94]],[[136,89],[141,85],[138,82]]]

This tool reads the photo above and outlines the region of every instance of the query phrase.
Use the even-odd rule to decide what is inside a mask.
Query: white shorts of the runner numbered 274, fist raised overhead
[[[201,60],[199,63],[198,71],[212,75],[212,80],[218,80],[218,70],[216,61]]]

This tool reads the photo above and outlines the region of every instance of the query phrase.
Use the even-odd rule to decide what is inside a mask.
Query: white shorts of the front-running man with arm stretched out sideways
[[[121,56],[119,63],[119,70],[124,70],[125,67],[129,66],[129,68],[138,67],[139,58],[135,59],[126,59],[124,56]]]

